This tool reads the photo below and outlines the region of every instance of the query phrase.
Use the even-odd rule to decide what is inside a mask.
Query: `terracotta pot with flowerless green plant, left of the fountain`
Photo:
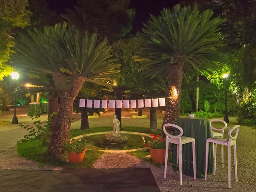
[[[71,143],[66,142],[64,150],[68,152],[68,160],[71,163],[80,163],[84,159],[84,154],[87,150],[85,147],[86,140],[72,139]]]

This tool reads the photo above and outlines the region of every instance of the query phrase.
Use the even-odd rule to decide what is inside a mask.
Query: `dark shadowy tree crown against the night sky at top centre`
[[[135,11],[128,8],[130,0],[77,0],[77,4],[62,16],[81,33],[97,32],[101,38],[116,41],[132,30]]]

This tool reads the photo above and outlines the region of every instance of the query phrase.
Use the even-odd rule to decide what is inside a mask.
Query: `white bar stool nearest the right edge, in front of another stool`
[[[229,132],[228,136],[229,138],[223,138],[223,137],[213,137],[213,138],[208,138],[206,140],[206,157],[205,157],[205,175],[204,175],[204,180],[207,180],[207,168],[208,168],[208,153],[209,153],[209,143],[214,144],[214,165],[213,165],[213,175],[216,173],[216,145],[225,145],[228,146],[228,188],[230,188],[230,147],[234,146],[234,162],[235,162],[235,177],[236,177],[236,182],[237,182],[237,163],[236,163],[236,138],[238,135],[239,131],[239,125],[233,126]],[[232,136],[232,131],[236,129],[236,135]]]

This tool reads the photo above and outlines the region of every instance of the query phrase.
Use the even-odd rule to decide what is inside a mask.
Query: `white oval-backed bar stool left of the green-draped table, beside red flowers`
[[[171,135],[166,131],[166,126],[174,127],[180,130],[179,135]],[[178,125],[175,124],[164,124],[163,126],[164,133],[166,134],[166,149],[165,149],[165,162],[164,162],[164,178],[166,178],[166,171],[167,171],[167,159],[168,159],[168,148],[169,143],[177,145],[177,157],[176,157],[176,165],[178,165],[179,160],[179,172],[180,172],[180,185],[182,185],[182,145],[191,143],[193,146],[193,172],[194,172],[194,180],[196,180],[196,140],[192,137],[185,137],[182,136],[183,130]]]

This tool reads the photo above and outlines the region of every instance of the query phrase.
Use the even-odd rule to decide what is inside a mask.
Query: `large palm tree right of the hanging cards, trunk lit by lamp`
[[[181,8],[176,5],[164,8],[160,16],[151,16],[140,33],[143,58],[152,62],[152,74],[164,72],[169,77],[170,100],[167,104],[163,124],[176,123],[180,112],[180,90],[184,74],[191,70],[209,70],[216,68],[212,61],[220,60],[218,48],[224,46],[224,37],[218,25],[224,22],[219,17],[212,18],[213,12]],[[151,75],[151,74],[150,74]]]

